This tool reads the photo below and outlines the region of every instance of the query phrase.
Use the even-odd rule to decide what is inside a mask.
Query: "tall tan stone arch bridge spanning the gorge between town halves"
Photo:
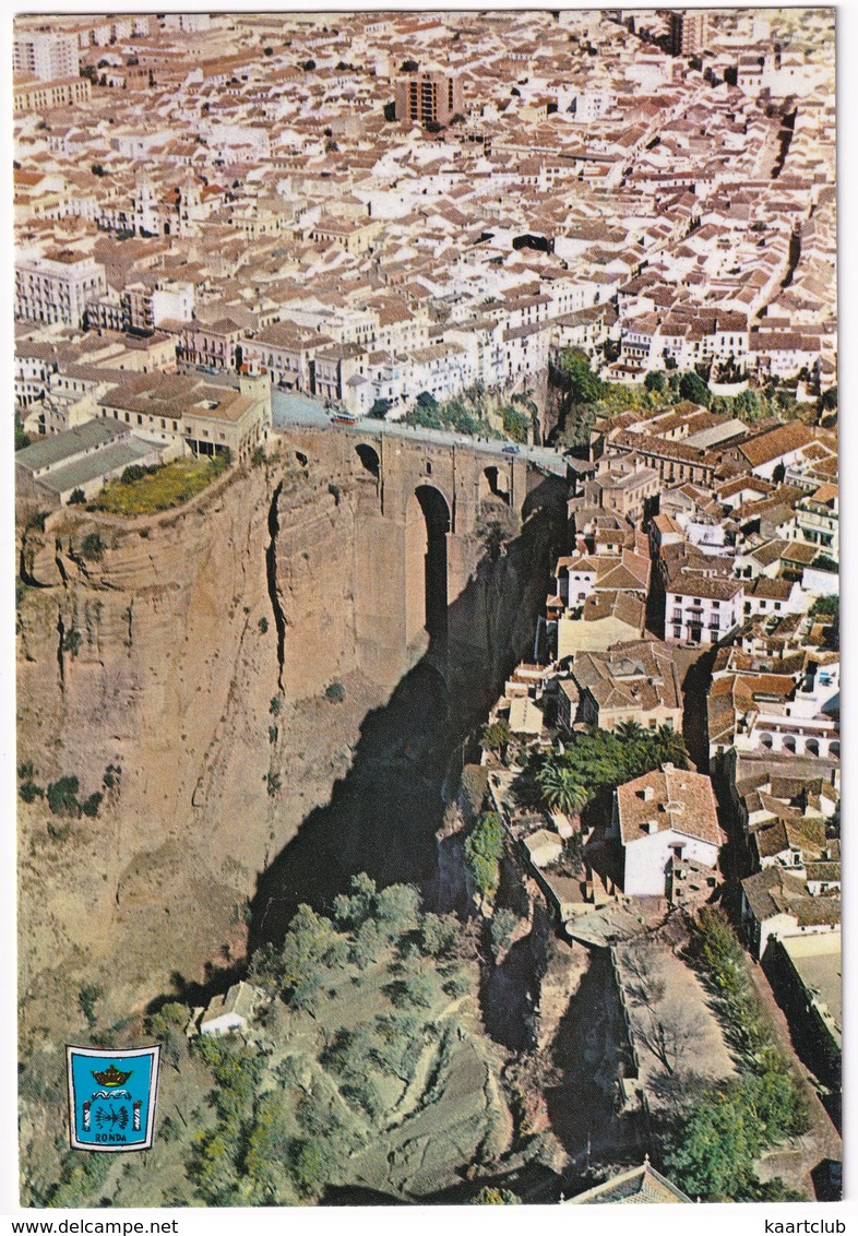
[[[491,549],[490,525],[514,539],[545,472],[523,454],[376,426],[291,426],[279,436],[282,449],[302,462],[352,482],[361,667],[387,679],[414,665],[430,643],[435,649],[478,643],[482,602],[469,585]],[[563,491],[563,482],[553,483]]]

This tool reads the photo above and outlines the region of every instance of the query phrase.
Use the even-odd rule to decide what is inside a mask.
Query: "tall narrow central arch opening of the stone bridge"
[[[450,506],[433,485],[418,485],[406,507],[406,635],[446,634]]]

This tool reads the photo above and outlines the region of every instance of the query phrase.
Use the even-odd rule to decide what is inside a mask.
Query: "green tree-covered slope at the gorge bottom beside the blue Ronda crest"
[[[141,1195],[150,1205],[295,1205],[367,1179],[383,1188],[396,1156],[410,1188],[418,1143],[449,1183],[493,1161],[507,1133],[497,1083],[485,1082],[492,1048],[461,1007],[475,984],[470,948],[461,925],[424,911],[410,885],[377,889],[357,875],[330,916],[300,906],[282,947],[252,958],[262,1002],[244,1035],[188,1041],[190,1009],[178,1000],[150,1015],[164,1063],[151,1164],[64,1152],[36,1204],[109,1204],[104,1194],[114,1205]],[[100,996],[79,996],[90,1030]],[[99,1022],[98,1033],[113,1032]]]

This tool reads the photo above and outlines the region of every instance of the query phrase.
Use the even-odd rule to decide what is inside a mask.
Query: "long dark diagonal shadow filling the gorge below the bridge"
[[[435,871],[441,787],[451,756],[485,718],[517,659],[529,656],[549,571],[565,533],[565,485],[550,477],[524,503],[520,534],[485,556],[448,606],[389,702],[367,713],[349,774],[262,873],[251,905],[251,950],[279,944],[307,902],[331,908],[351,876],[427,887]]]

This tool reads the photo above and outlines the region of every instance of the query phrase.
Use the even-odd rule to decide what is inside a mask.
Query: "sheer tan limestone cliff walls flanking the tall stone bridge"
[[[365,491],[342,452],[284,454],[181,512],[64,509],[21,535],[17,763],[105,795],[96,818],[20,803],[25,1023],[52,1025],[96,983],[108,1025],[241,953],[260,873],[349,775],[365,716],[413,659],[386,676],[361,658]],[[549,541],[522,535],[491,562],[462,540],[449,680],[471,707],[528,648]]]

